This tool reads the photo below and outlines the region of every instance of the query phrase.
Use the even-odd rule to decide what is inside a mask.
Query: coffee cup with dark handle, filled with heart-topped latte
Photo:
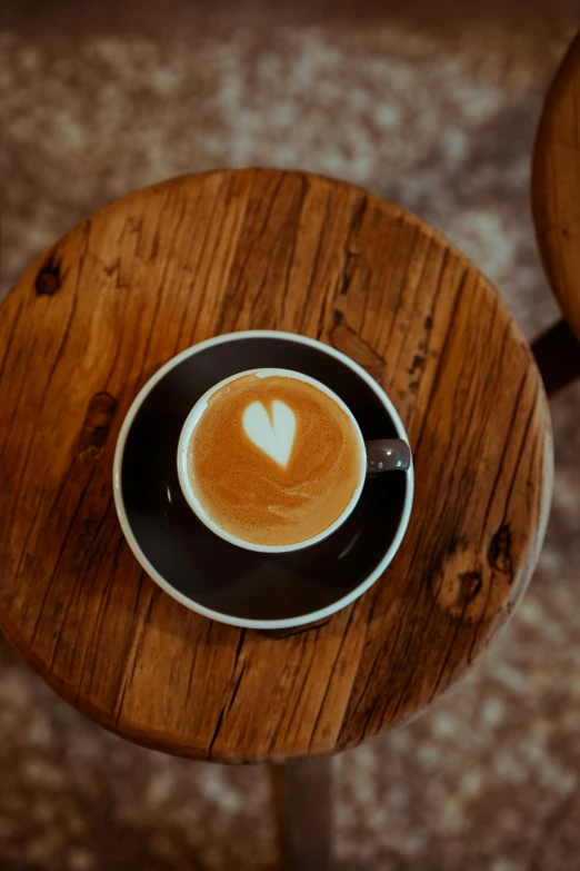
[[[261,553],[310,547],[354,509],[368,474],[408,469],[403,439],[364,443],[346,403],[320,380],[250,369],[208,389],[181,429],[177,467],[198,518]]]

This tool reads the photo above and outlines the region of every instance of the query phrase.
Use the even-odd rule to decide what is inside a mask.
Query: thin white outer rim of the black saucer
[[[124,454],[127,438],[131,429],[132,423],[141,405],[143,404],[147,396],[151,393],[153,387],[162,378],[164,378],[164,376],[169,372],[171,372],[172,368],[179,366],[179,364],[188,359],[188,357],[191,357],[194,354],[199,354],[200,352],[206,350],[207,348],[211,348],[216,345],[221,345],[227,342],[238,342],[239,339],[251,339],[251,338],[270,338],[270,339],[278,339],[278,340],[286,339],[289,342],[307,345],[311,348],[317,348],[318,350],[324,352],[329,356],[340,360],[343,365],[348,366],[360,378],[362,378],[362,380],[364,380],[366,384],[373,390],[373,393],[377,395],[379,400],[382,403],[382,405],[386,407],[387,412],[389,413],[389,416],[394,425],[394,428],[397,429],[398,437],[409,443],[409,438],[404,430],[402,420],[399,417],[397,409],[394,408],[392,402],[387,396],[384,390],[377,384],[374,378],[372,378],[368,374],[368,372],[362,368],[362,366],[360,366],[353,359],[348,357],[346,354],[342,354],[342,352],[337,350],[337,348],[333,348],[330,345],[324,345],[323,343],[318,342],[317,339],[312,339],[307,336],[301,336],[298,333],[288,333],[288,331],[274,330],[274,329],[250,329],[250,330],[240,330],[239,333],[226,333],[221,336],[213,336],[212,338],[200,342],[197,345],[192,345],[191,347],[186,348],[180,354],[172,357],[163,366],[161,366],[161,368],[159,368],[154,373],[154,375],[151,376],[151,378],[149,378],[149,380],[143,385],[143,387],[141,387],[141,389],[137,394],[121,425],[121,429],[119,432],[119,437],[117,439],[117,446],[114,451],[114,458],[113,458],[114,506],[117,508],[117,514],[119,516],[119,522],[121,524],[123,535],[136,560],[139,562],[143,571],[149,575],[149,577],[151,577],[161,587],[161,590],[168,593],[168,595],[170,595],[177,602],[184,605],[190,611],[194,611],[198,614],[208,617],[209,620],[214,620],[218,621],[219,623],[226,623],[230,626],[238,626],[241,628],[253,628],[253,630],[293,628],[297,626],[306,626],[309,623],[316,623],[320,620],[324,620],[326,617],[336,614],[338,611],[341,611],[343,607],[347,607],[357,598],[359,598],[363,593],[366,593],[367,590],[369,590],[372,586],[372,584],[374,584],[374,582],[383,574],[384,570],[391,563],[394,554],[399,550],[404,533],[407,532],[407,527],[409,525],[409,519],[411,516],[411,508],[413,503],[413,491],[414,491],[414,474],[413,474],[412,464],[410,468],[406,469],[404,472],[397,473],[397,474],[406,475],[407,477],[407,487],[406,487],[403,507],[401,512],[401,517],[399,519],[399,525],[397,527],[397,533],[387,553],[382,557],[381,562],[364,578],[364,581],[362,581],[357,587],[354,587],[354,590],[351,590],[347,595],[342,596],[341,598],[338,598],[336,602],[332,602],[330,605],[327,605],[326,607],[319,608],[318,611],[312,611],[307,614],[301,614],[294,617],[287,617],[287,618],[284,617],[281,620],[252,620],[246,617],[244,618],[237,617],[230,614],[223,614],[220,611],[214,611],[213,608],[206,607],[204,605],[199,604],[194,600],[189,598],[189,596],[183,595],[183,593],[181,593],[179,590],[172,586],[172,584],[166,581],[166,578],[157,571],[157,568],[148,560],[146,554],[141,551],[139,542],[137,541],[131,529],[131,525],[129,523],[129,518],[127,516],[127,511],[123,502],[121,471],[122,471],[122,458]]]

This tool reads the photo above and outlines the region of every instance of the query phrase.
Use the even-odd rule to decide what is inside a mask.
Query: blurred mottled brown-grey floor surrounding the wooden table
[[[578,24],[577,0],[0,0],[0,296],[128,190],[277,165],[440,227],[531,337],[557,309],[530,150]],[[580,869],[579,400],[552,405],[553,511],[508,630],[423,717],[336,758],[340,871]],[[1,871],[274,868],[264,770],[124,743],[0,641]]]

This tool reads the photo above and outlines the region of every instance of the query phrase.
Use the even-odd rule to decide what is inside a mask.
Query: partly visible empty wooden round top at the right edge
[[[532,210],[546,271],[580,339],[580,32],[556,73],[538,128]]]

